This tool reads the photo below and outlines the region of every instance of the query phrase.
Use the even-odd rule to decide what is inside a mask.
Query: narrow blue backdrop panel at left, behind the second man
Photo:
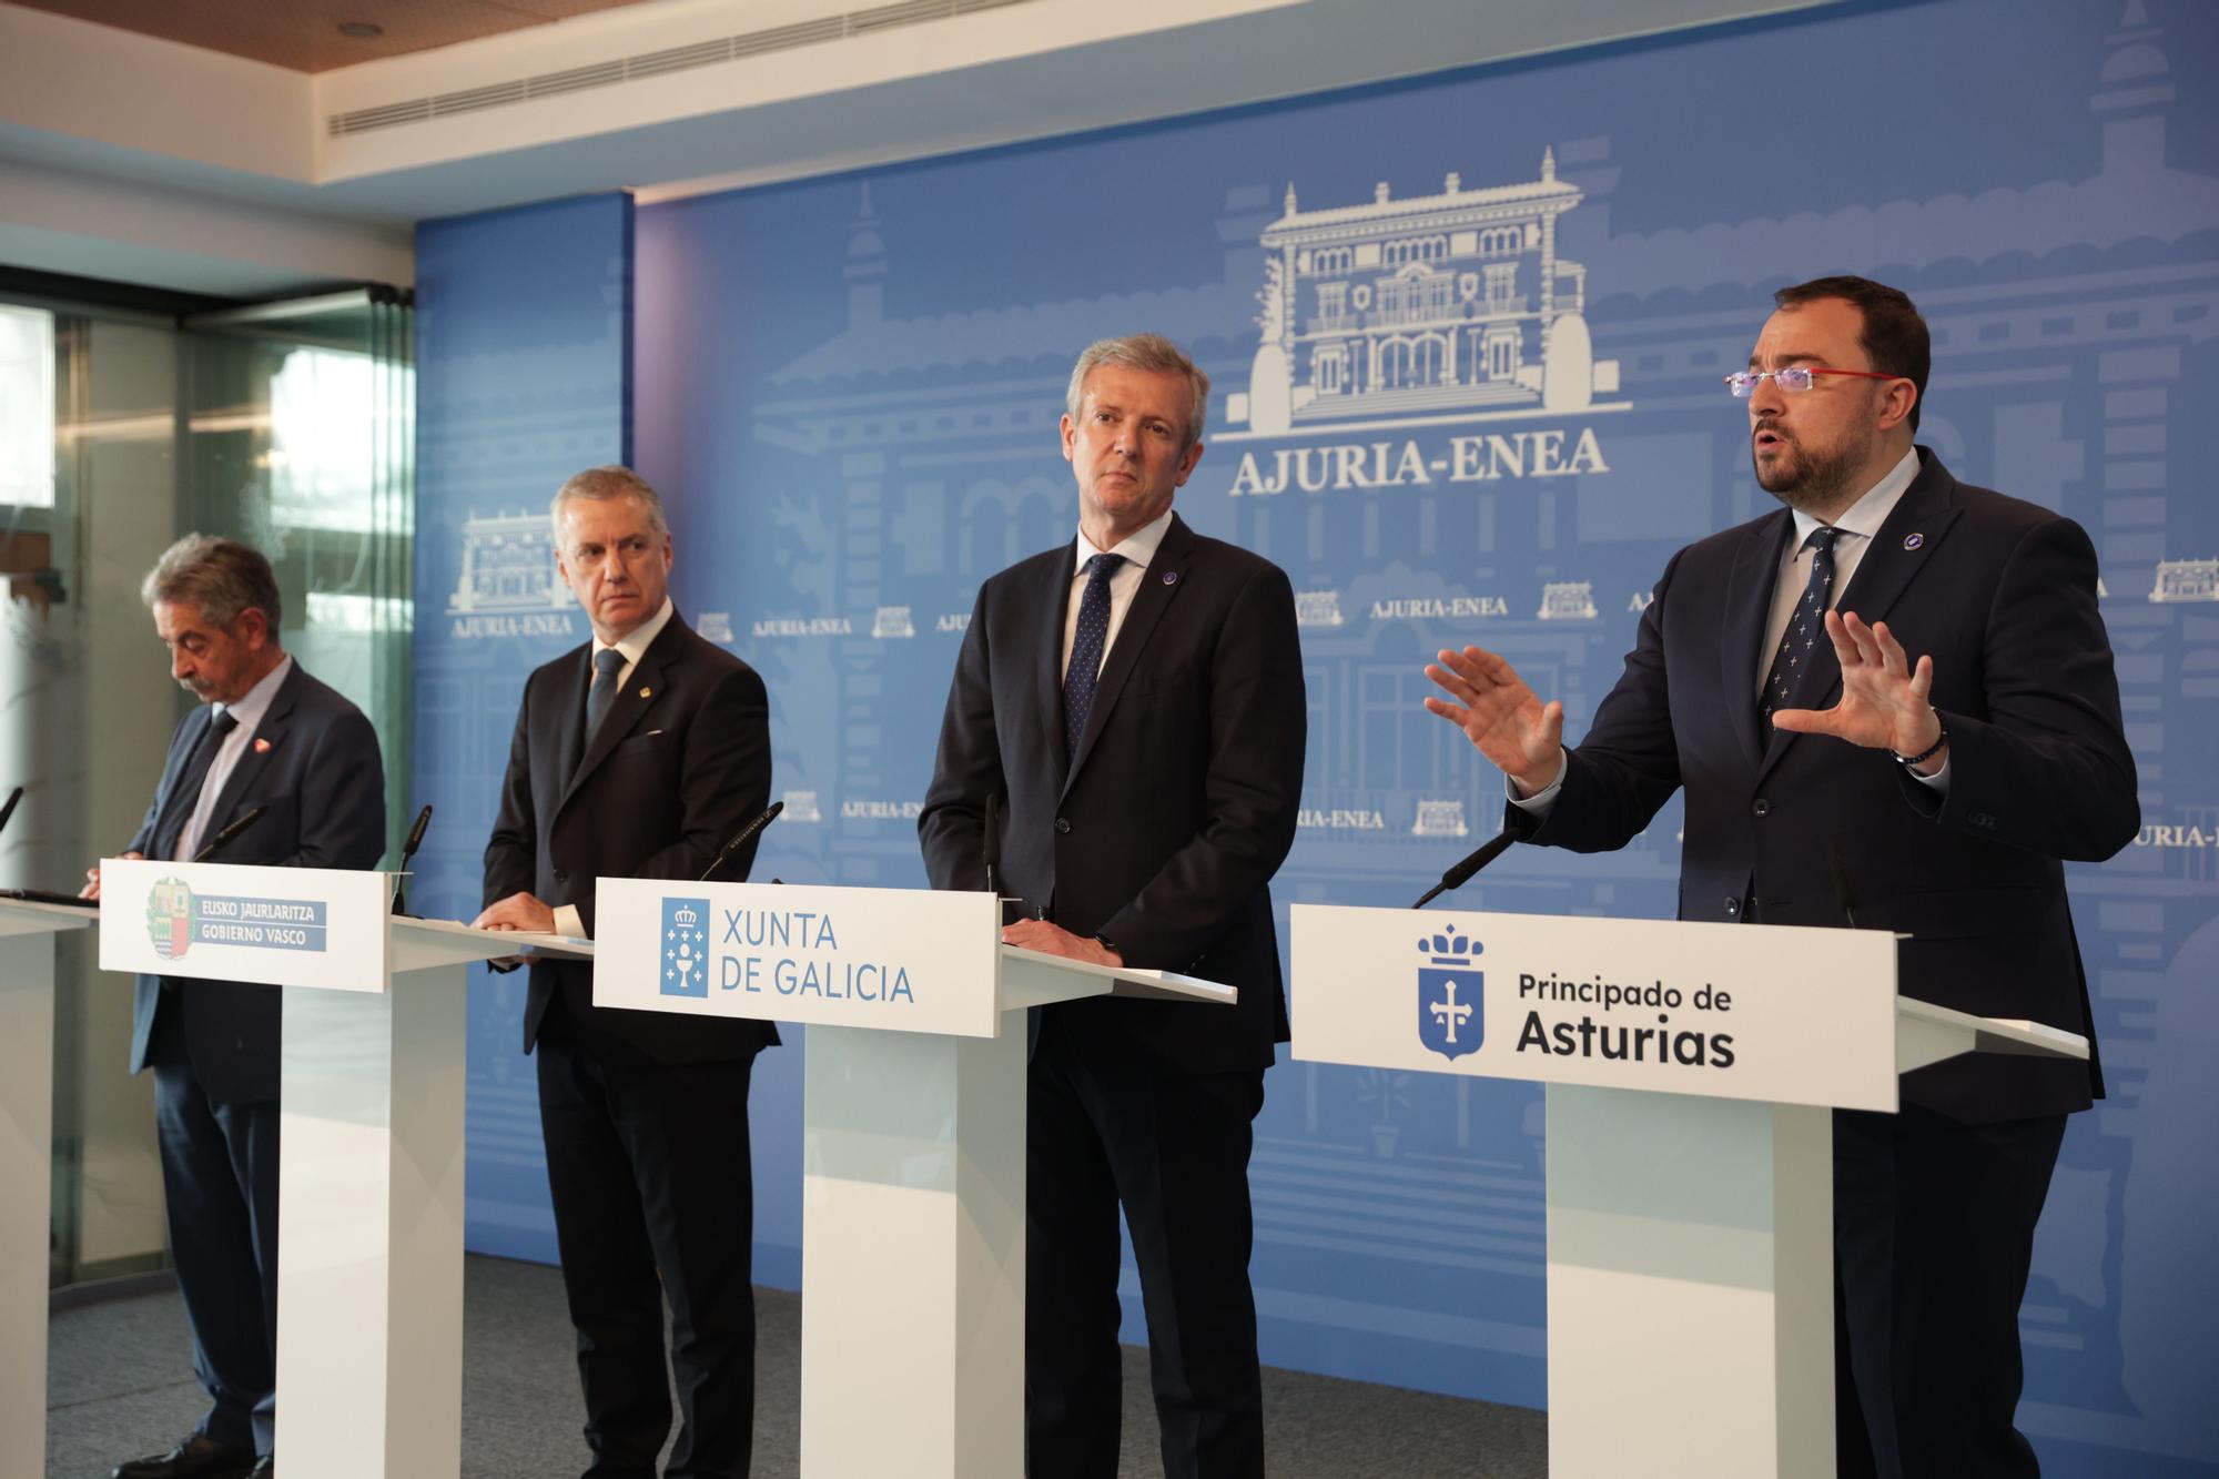
[[[630,460],[630,195],[417,231],[419,913],[477,913],[524,680],[590,635],[555,580],[548,500]],[[470,979],[466,1184],[470,1248],[555,1261],[524,973]]]

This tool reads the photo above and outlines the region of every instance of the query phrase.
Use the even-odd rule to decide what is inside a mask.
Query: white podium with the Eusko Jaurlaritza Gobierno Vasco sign
[[[386,873],[109,857],[100,879],[102,970],[288,988],[277,1150],[286,1470],[459,1475],[468,966],[590,946],[393,919]]]

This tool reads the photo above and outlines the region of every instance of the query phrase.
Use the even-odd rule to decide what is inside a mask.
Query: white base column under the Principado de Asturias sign
[[[1833,1110],[1549,1084],[1549,1475],[1831,1479]]]

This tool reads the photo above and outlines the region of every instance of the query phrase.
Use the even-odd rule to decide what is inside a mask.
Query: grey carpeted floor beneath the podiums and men
[[[757,1317],[754,1475],[786,1479],[801,1472],[801,1297],[757,1290]],[[49,1479],[100,1479],[118,1459],[160,1452],[202,1408],[173,1292],[58,1310],[49,1352]],[[1265,1421],[1274,1479],[1540,1479],[1549,1468],[1547,1419],[1527,1408],[1265,1370]],[[473,1257],[464,1281],[464,1479],[566,1479],[584,1466],[557,1272]],[[1163,1475],[1147,1357],[1134,1348],[1125,1350],[1118,1475]]]

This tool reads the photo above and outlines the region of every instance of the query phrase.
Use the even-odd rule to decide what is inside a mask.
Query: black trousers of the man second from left
[[[550,1006],[535,1048],[592,1479],[743,1479],[754,1443],[752,1057],[663,1064]]]

